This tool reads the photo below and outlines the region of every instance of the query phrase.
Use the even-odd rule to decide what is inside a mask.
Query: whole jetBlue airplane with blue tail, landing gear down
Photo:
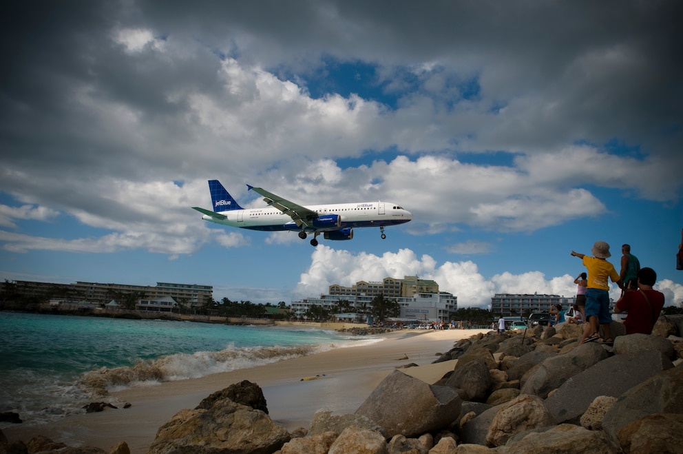
[[[352,239],[353,227],[379,227],[381,238],[384,239],[384,227],[407,223],[412,219],[410,211],[391,202],[334,203],[302,207],[260,187],[246,186],[262,195],[269,207],[244,209],[218,180],[209,180],[213,211],[192,208],[204,215],[202,219],[216,224],[251,230],[298,231],[302,240],[312,233],[311,245],[314,247],[318,245],[319,234],[323,234],[326,240]]]

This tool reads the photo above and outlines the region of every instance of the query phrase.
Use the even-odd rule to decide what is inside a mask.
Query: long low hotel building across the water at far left
[[[112,300],[133,296],[139,299],[161,300],[174,298],[176,302],[189,307],[202,307],[213,300],[213,287],[210,285],[178,284],[157,282],[151,285],[102,284],[98,282],[76,282],[75,284],[55,284],[17,280],[2,282],[0,293],[3,298],[33,302],[61,300],[63,302],[87,302],[106,305]],[[117,301],[121,304],[122,301]]]

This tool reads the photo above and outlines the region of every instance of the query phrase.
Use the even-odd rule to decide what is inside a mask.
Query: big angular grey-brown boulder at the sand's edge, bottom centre
[[[395,370],[355,413],[377,422],[388,438],[412,437],[448,426],[459,415],[461,404],[454,389],[426,384]]]

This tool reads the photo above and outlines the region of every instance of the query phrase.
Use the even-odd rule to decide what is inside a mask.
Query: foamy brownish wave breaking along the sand
[[[342,345],[241,348],[235,348],[231,345],[221,351],[197,351],[192,354],[176,353],[156,360],[138,360],[132,366],[102,367],[85,373],[78,380],[77,385],[88,393],[107,395],[109,391],[118,391],[131,386],[200,378],[212,373],[247,369],[262,364],[298,358],[336,347],[342,347]]]

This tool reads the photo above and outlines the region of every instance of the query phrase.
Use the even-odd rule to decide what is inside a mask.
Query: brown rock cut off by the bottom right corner
[[[683,451],[683,415],[648,415],[620,430],[618,440],[626,453],[680,453]]]

